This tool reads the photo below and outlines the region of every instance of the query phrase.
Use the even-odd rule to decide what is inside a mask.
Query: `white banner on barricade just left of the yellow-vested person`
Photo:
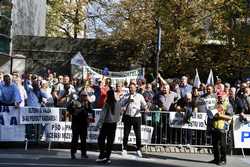
[[[190,123],[186,123],[183,121],[185,113],[169,112],[169,126],[172,128],[207,130],[207,114],[197,112],[193,112],[192,114],[193,116],[190,118]]]

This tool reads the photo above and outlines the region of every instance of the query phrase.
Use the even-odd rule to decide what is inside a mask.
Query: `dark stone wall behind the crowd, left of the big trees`
[[[13,53],[26,57],[26,71],[43,74],[47,69],[57,73],[70,73],[70,60],[80,51],[88,65],[113,71],[129,70],[128,61],[136,54],[131,41],[113,44],[112,41],[96,39],[48,38],[15,36]]]

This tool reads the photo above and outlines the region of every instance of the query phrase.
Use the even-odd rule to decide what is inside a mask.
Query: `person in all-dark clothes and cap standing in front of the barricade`
[[[91,103],[88,100],[88,95],[85,91],[80,92],[79,99],[72,98],[67,109],[72,115],[72,141],[71,141],[71,159],[75,159],[77,151],[78,139],[81,139],[81,157],[88,158],[86,149],[86,138],[88,128],[88,114],[91,113],[94,117],[94,111],[91,108]]]

